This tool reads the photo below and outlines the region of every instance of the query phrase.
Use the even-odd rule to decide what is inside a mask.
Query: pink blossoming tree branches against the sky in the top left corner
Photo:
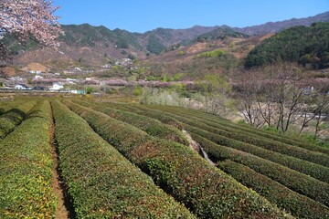
[[[5,34],[16,36],[20,43],[33,38],[44,47],[57,48],[56,38],[63,32],[56,10],[51,0],[0,0],[0,59],[8,58],[1,40]]]

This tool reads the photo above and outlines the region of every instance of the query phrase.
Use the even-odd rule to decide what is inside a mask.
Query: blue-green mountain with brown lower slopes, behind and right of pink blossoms
[[[20,45],[15,38],[6,36],[15,55],[14,64],[28,65],[30,62],[43,64],[82,62],[85,65],[103,65],[123,57],[144,59],[159,55],[166,47],[189,42],[215,27],[193,26],[187,29],[157,28],[143,34],[126,30],[110,30],[105,26],[68,25],[62,26],[65,36],[59,37],[60,47],[56,52],[39,48],[31,40]],[[69,64],[70,63],[70,64]]]

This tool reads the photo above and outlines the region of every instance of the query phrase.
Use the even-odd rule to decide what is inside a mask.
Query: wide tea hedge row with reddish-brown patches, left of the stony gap
[[[188,147],[154,138],[101,112],[69,101],[65,101],[65,104],[198,217],[289,217]]]

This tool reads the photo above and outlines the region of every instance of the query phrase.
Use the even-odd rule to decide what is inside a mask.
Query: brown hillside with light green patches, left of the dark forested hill
[[[199,79],[207,74],[230,77],[249,51],[272,34],[247,38],[225,36],[223,39],[207,36],[207,40],[205,36],[207,34],[203,35],[204,40],[199,38],[190,46],[170,47],[160,56],[147,58],[141,64],[145,75],[158,79],[164,76],[169,79]]]

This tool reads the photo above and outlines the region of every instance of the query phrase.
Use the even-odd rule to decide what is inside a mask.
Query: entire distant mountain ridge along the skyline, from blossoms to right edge
[[[16,49],[16,64],[26,65],[30,62],[49,62],[52,59],[80,61],[90,64],[108,63],[111,59],[123,57],[145,59],[160,55],[168,47],[181,47],[197,42],[198,36],[207,36],[210,40],[223,40],[226,37],[246,37],[266,35],[279,32],[289,26],[309,26],[314,21],[328,21],[329,12],[306,18],[268,22],[260,26],[243,28],[230,26],[192,26],[186,29],[158,27],[144,33],[129,32],[119,28],[109,29],[106,26],[63,25],[66,33],[60,36],[62,54],[55,54],[49,49],[32,47],[22,48],[13,44]],[[209,37],[210,36],[210,37]],[[37,60],[36,60],[37,59]]]

